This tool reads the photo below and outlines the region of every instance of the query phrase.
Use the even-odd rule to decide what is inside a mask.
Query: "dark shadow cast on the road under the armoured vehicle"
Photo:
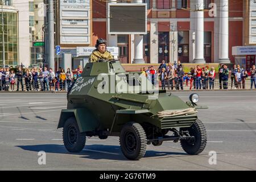
[[[39,144],[33,146],[16,146],[27,151],[44,151],[46,153],[53,154],[71,154],[81,155],[81,158],[85,159],[110,159],[110,160],[127,160],[121,152],[119,146],[109,146],[102,144],[92,144],[85,146],[84,150],[79,153],[68,152],[63,145],[60,144]],[[161,157],[167,155],[187,155],[181,152],[162,152],[147,150],[144,158]]]

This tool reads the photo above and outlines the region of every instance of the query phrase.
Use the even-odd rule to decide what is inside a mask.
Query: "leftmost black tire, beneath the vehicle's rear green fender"
[[[80,133],[75,118],[68,118],[63,127],[63,142],[69,152],[80,152],[86,142],[86,134]]]

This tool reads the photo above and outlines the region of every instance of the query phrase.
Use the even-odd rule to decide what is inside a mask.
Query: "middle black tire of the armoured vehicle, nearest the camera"
[[[147,137],[139,123],[129,122],[123,125],[119,142],[127,159],[139,160],[146,153]]]

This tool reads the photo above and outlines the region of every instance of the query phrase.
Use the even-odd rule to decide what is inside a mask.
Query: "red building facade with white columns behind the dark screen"
[[[118,47],[118,59],[122,63],[137,63],[136,60],[141,57],[144,63],[160,63],[162,60],[167,63],[177,60],[182,63],[235,63],[232,47],[249,42],[245,39],[244,30],[246,23],[252,21],[246,19],[249,17],[246,11],[250,11],[250,3],[243,0],[75,0],[72,6],[61,6],[61,3],[68,5],[70,2],[59,0],[55,5],[55,14],[59,19],[55,27],[55,44],[61,45],[62,52],[77,52],[76,47],[93,47],[98,38],[104,38],[108,40],[109,47]],[[108,3],[119,2],[147,4],[146,35],[108,34]],[[69,16],[63,17],[61,12],[74,7],[75,11],[84,9],[88,12],[84,12],[83,16],[69,13]],[[80,28],[73,32],[69,28],[72,26]],[[77,38],[73,37],[73,42],[63,44],[63,35]],[[81,35],[88,36],[88,39],[76,42]],[[136,45],[141,40],[143,43]],[[141,57],[135,57],[138,55]],[[84,63],[84,57],[74,54],[72,57],[72,68]]]

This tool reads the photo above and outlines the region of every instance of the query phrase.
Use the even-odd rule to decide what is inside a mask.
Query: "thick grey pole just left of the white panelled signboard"
[[[54,46],[54,5],[53,0],[48,0],[48,62],[49,68],[55,70],[55,46]]]

